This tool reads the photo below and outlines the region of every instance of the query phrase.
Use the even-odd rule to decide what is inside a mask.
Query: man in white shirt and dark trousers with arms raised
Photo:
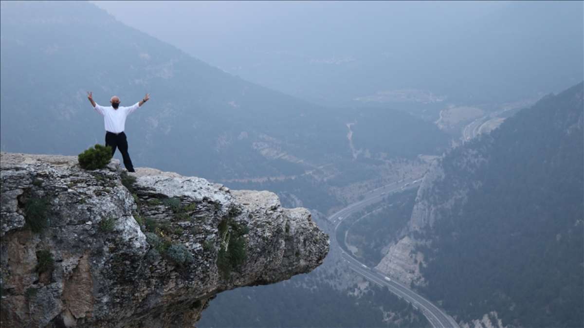
[[[148,93],[144,99],[130,107],[120,107],[120,98],[118,96],[113,96],[110,99],[112,106],[109,107],[96,104],[93,101],[91,92],[87,93],[87,98],[91,102],[93,109],[103,116],[103,123],[106,128],[106,146],[112,147],[112,156],[116,152],[116,147],[119,148],[121,156],[124,158],[124,166],[126,166],[128,172],[134,172],[134,166],[132,165],[130,154],[128,154],[128,140],[124,133],[124,126],[126,125],[126,117],[150,99]]]

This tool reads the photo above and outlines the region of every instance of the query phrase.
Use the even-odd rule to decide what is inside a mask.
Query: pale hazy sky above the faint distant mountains
[[[344,40],[369,37],[388,28],[408,27],[434,33],[472,22],[506,2],[246,2],[246,1],[93,1],[117,19],[183,50],[213,61],[207,54],[225,43],[248,48],[273,46],[318,51],[329,46],[338,28],[353,28]],[[404,31],[406,32],[406,31]],[[446,32],[446,31],[441,31]],[[338,46],[338,45],[336,45]],[[346,44],[347,48],[351,44]],[[211,49],[210,49],[211,48]],[[237,49],[233,49],[237,51]]]

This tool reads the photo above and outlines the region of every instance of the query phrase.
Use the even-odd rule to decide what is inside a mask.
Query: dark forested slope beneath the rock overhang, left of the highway
[[[269,287],[223,292],[211,301],[197,326],[430,327],[419,310],[387,288],[375,286],[360,296],[352,296],[326,282],[311,282],[310,286],[303,286],[303,282],[303,277],[293,277]],[[392,312],[394,323],[384,322],[384,311]]]

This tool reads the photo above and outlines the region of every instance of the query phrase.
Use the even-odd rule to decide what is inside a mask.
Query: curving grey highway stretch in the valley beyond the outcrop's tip
[[[343,261],[347,263],[351,270],[353,270],[356,274],[359,274],[362,277],[366,278],[370,282],[373,282],[374,284],[380,285],[381,287],[387,287],[392,293],[397,295],[399,298],[402,298],[406,302],[411,303],[414,308],[421,310],[423,315],[430,322],[430,324],[432,324],[432,327],[459,328],[458,324],[454,321],[454,319],[451,316],[447,315],[444,312],[444,310],[438,308],[436,305],[428,301],[423,296],[416,294],[416,292],[412,291],[408,287],[400,284],[399,282],[391,279],[390,277],[386,277],[380,271],[374,268],[367,267],[365,264],[355,259],[352,255],[345,252],[345,250],[343,250],[340,247],[339,241],[336,240],[336,231],[339,228],[339,225],[343,221],[343,219],[349,217],[351,214],[357,211],[363,210],[363,208],[367,207],[368,205],[381,201],[385,196],[387,196],[388,193],[393,193],[395,191],[404,190],[417,186],[420,183],[421,179],[422,178],[420,177],[418,179],[401,180],[399,182],[390,183],[383,187],[379,187],[375,190],[371,190],[368,193],[364,194],[365,198],[363,200],[358,201],[357,203],[350,204],[349,206],[331,215],[328,219],[329,221],[336,223],[333,238],[336,241],[336,245],[339,246],[340,252],[342,253]],[[344,243],[344,240],[340,242]]]

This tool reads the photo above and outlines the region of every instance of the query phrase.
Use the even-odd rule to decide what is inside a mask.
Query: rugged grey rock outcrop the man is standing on
[[[194,326],[218,292],[307,273],[328,253],[310,212],[267,191],[145,168],[132,179],[116,160],[86,171],[3,152],[0,167],[2,326]]]

